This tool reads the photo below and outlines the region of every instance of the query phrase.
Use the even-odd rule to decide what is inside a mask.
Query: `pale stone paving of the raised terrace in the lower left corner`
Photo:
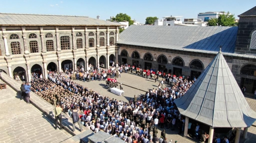
[[[11,87],[0,90],[0,95],[0,142],[58,143],[72,137],[65,130],[55,130],[53,120],[20,101],[20,94]]]

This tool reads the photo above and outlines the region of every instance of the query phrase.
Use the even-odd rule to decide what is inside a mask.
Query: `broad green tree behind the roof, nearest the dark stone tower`
[[[225,13],[225,12],[223,12]],[[235,15],[220,14],[218,18],[209,19],[208,26],[237,26],[235,23]]]

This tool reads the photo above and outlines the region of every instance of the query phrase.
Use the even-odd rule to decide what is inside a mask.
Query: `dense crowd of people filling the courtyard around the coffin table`
[[[123,70],[127,72],[126,67],[102,69],[91,65],[87,71],[83,66],[76,71],[69,68],[59,74],[51,71],[48,78],[35,76],[31,80],[31,91],[58,107],[54,109],[56,120],[61,118],[59,114],[63,111],[73,118],[73,124],[79,124],[81,131],[84,125],[95,133],[104,131],[128,143],[170,143],[165,130],[178,130],[181,134],[185,124],[185,118],[179,113],[174,100],[183,96],[194,80],[168,76],[170,82],[165,83],[172,86],[163,88],[159,84],[158,88],[150,89],[144,96],[134,96],[128,102],[103,96],[75,82],[118,78]],[[161,136],[157,136],[159,127],[163,129]],[[193,127],[195,130],[191,130]],[[189,123],[190,133],[196,134],[198,130],[199,125]]]

